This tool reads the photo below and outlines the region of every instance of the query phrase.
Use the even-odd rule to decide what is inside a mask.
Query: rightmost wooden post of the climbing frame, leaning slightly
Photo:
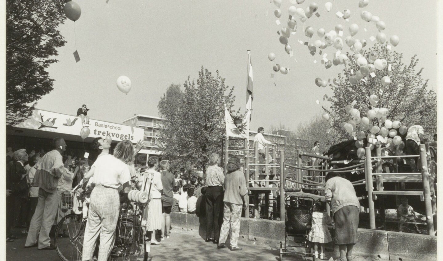
[[[423,196],[426,208],[426,222],[429,235],[434,235],[434,218],[432,215],[431,191],[429,188],[429,173],[427,171],[426,147],[420,144],[421,177],[423,179]]]

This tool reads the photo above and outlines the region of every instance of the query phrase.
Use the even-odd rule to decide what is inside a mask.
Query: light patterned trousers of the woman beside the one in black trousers
[[[220,229],[220,239],[218,242],[225,243],[226,239],[231,239],[231,247],[237,247],[238,235],[240,234],[241,205],[223,202],[223,224]],[[229,231],[230,226],[230,231]]]

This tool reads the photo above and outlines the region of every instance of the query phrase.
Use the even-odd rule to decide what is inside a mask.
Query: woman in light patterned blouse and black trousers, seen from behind
[[[212,153],[209,156],[209,167],[206,169],[206,242],[213,241],[218,243],[220,237],[220,225],[223,208],[223,183],[225,175],[223,170],[218,167],[220,164],[220,155]],[[212,233],[214,232],[214,237]]]

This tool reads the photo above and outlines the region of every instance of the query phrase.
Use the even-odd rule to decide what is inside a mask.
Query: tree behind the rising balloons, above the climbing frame
[[[425,132],[432,136],[437,130],[437,99],[435,92],[427,89],[427,80],[422,78],[423,68],[416,71],[419,59],[414,55],[411,62],[405,65],[402,62],[402,54],[389,51],[386,45],[381,44],[376,44],[361,54],[368,58],[370,52],[378,54],[380,59],[386,59],[392,70],[389,71],[389,66],[386,66],[384,70],[376,70],[375,77],[368,75],[367,83],[357,81],[356,84],[351,84],[348,80],[353,75],[351,70],[357,74],[360,67],[353,58],[345,63],[343,74],[338,75],[340,85],[331,84],[334,94],[332,97],[325,95],[331,106],[329,109],[325,107],[323,109],[333,118],[334,129],[340,136],[349,138],[340,127],[341,122],[350,120],[350,115],[344,109],[345,106],[356,101],[354,108],[360,111],[361,117],[364,117],[366,112],[373,108],[369,96],[376,94],[380,99],[377,107],[389,109],[388,119],[401,121],[407,127],[422,125]],[[391,79],[391,83],[385,87],[381,84],[381,78],[384,76],[389,76]],[[377,120],[373,120],[372,124],[378,125]]]

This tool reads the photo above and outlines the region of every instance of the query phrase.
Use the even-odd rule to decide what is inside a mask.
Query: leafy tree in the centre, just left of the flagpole
[[[197,84],[188,77],[183,93],[178,86],[170,86],[158,105],[163,119],[159,135],[163,155],[182,166],[200,167],[204,173],[210,153],[221,151],[224,104],[230,109],[235,99],[234,87],[225,86],[225,78],[216,74],[214,77],[202,66]]]

